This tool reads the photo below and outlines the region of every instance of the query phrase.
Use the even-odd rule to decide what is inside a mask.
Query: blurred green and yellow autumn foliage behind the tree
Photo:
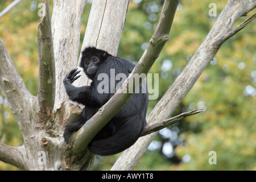
[[[0,1],[0,12],[11,0]],[[0,18],[0,36],[28,90],[38,91],[38,4],[19,3]],[[150,100],[148,114],[183,70],[213,26],[227,0],[180,0],[170,39],[150,70],[159,73],[159,97]],[[52,4],[51,3],[51,10]],[[85,6],[81,44],[91,1]],[[216,3],[217,16],[209,16]],[[130,0],[118,56],[136,62],[146,49],[162,10],[163,0]],[[235,26],[254,14],[240,18]],[[226,41],[176,109],[193,115],[160,130],[135,170],[256,170],[256,22]],[[1,66],[1,65],[0,65]],[[0,141],[23,144],[22,134],[0,90]],[[216,152],[217,164],[208,160]],[[109,170],[119,154],[97,156],[94,170]],[[0,170],[18,170],[0,162]]]

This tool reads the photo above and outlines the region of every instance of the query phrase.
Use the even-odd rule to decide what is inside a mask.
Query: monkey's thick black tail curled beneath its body
[[[108,138],[92,140],[88,145],[89,150],[93,154],[105,156],[117,154],[132,146],[141,135],[143,127],[134,129],[124,125],[122,129]]]

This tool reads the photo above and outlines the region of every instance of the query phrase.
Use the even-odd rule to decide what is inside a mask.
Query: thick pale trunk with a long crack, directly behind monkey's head
[[[129,0],[94,0],[81,49],[95,46],[108,51],[111,55],[117,55],[121,39],[119,34],[123,30],[128,5]],[[124,16],[117,16],[120,12]],[[97,22],[95,22],[96,19]],[[114,26],[110,26],[113,22]]]

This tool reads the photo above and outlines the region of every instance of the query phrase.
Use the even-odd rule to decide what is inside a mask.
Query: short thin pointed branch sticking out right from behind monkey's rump
[[[189,115],[194,115],[203,112],[203,109],[197,109],[197,110],[192,110],[188,111],[186,113],[181,113],[179,115],[176,115],[175,117],[169,118],[169,119],[164,119],[162,122],[157,122],[157,123],[152,123],[151,125],[147,125],[144,127],[141,137],[154,133],[155,131],[162,130],[164,127],[173,125],[176,122],[179,122],[181,119],[188,117]]]

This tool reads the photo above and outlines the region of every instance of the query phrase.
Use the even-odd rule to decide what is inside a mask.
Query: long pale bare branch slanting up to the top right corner
[[[171,85],[162,99],[156,104],[150,115],[148,115],[148,124],[162,121],[174,112],[209,62],[216,55],[218,48],[220,48],[220,45],[216,44],[216,40],[226,35],[230,31],[233,23],[255,6],[256,1],[229,0],[214,23],[212,30],[210,30],[204,42],[197,49],[195,55],[176,78],[174,84]],[[156,134],[157,132],[139,138],[133,146],[123,151],[112,167],[112,170],[132,170],[144,152],[146,152],[147,147],[155,138]]]

